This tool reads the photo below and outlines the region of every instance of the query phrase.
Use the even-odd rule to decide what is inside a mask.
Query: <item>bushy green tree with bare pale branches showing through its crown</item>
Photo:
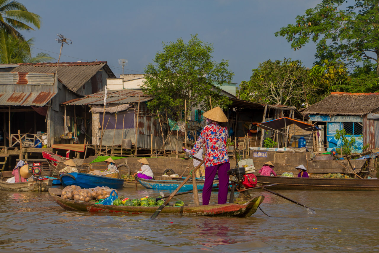
[[[299,60],[268,60],[252,72],[250,81],[243,81],[240,85],[241,99],[299,106],[312,89],[307,82],[308,70]]]

